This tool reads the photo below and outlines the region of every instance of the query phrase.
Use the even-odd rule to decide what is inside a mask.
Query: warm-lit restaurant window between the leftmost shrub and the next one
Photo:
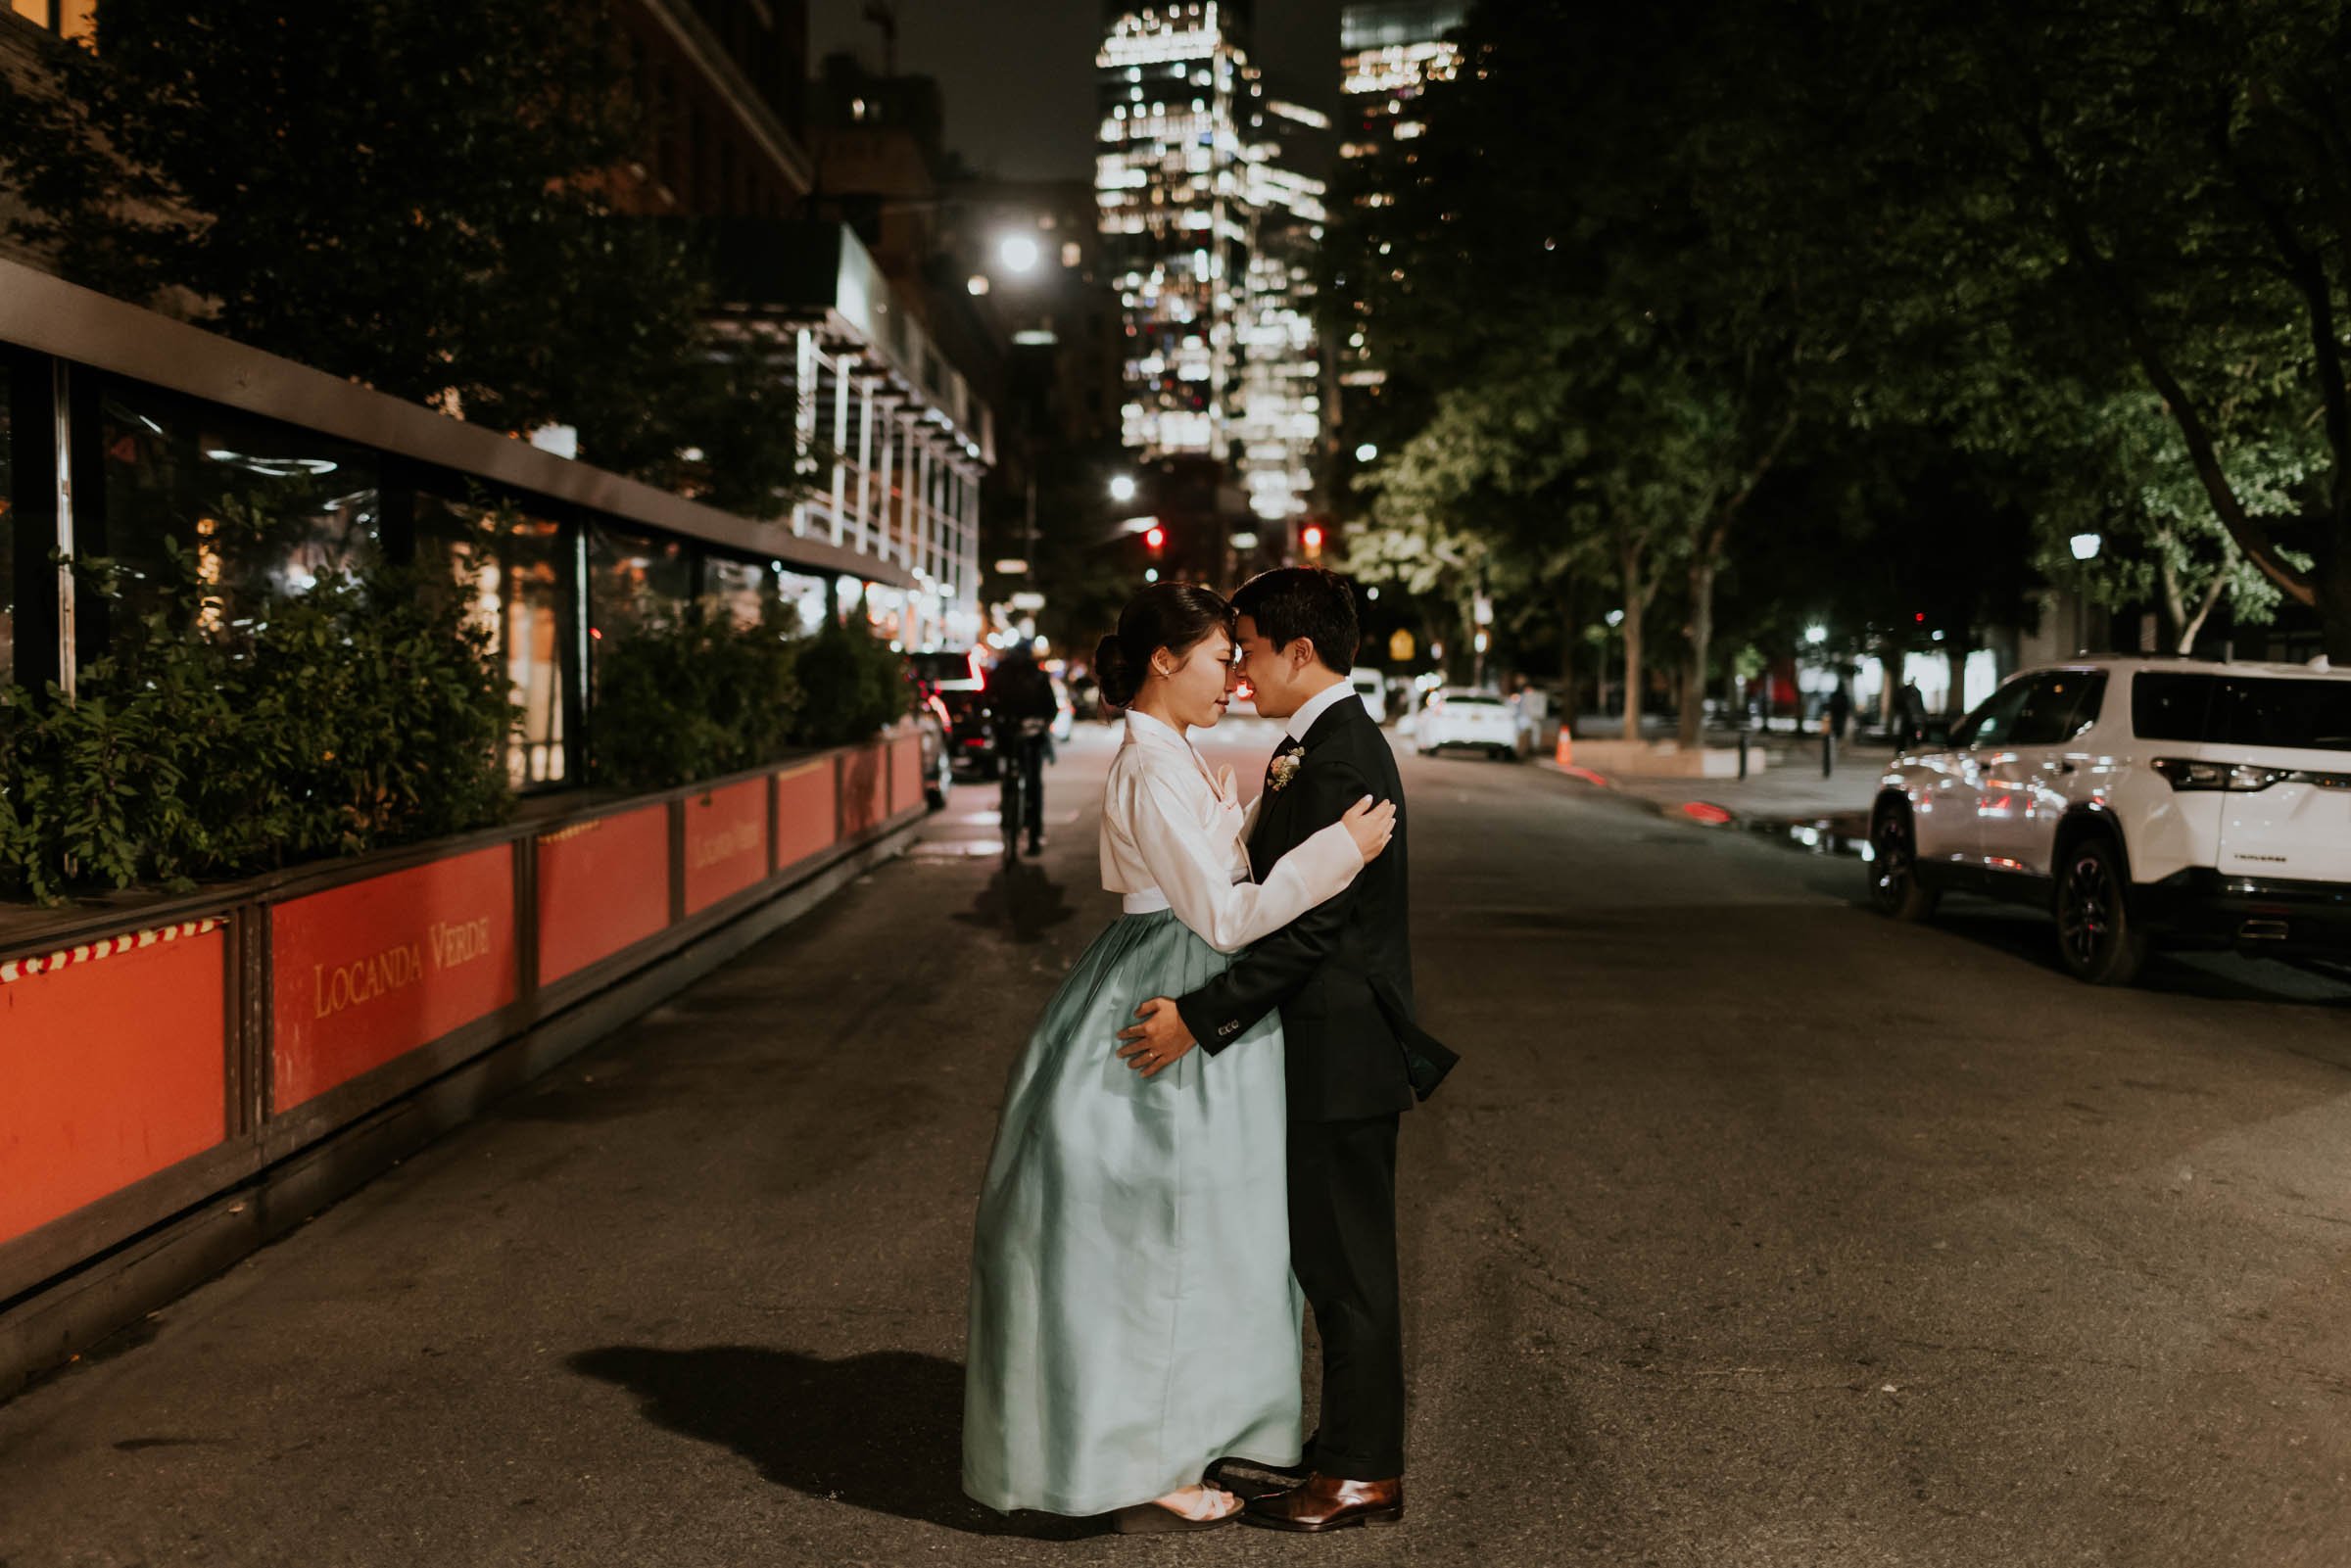
[[[513,505],[416,496],[416,555],[473,578],[473,618],[491,637],[515,693],[505,771],[517,790],[571,776],[564,628],[571,550],[560,522]]]

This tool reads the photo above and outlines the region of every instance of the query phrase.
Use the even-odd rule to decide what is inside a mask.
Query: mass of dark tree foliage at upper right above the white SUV
[[[1606,578],[1636,663],[1674,611],[1686,733],[1719,585],[1761,614],[1799,545],[1888,651],[2095,531],[2170,646],[2290,604],[2351,658],[2351,5],[1486,0],[1460,45],[1335,193],[1366,567]]]

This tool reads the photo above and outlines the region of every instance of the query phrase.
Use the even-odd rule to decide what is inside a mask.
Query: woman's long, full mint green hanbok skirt
[[[964,1490],[1107,1514],[1218,1458],[1295,1465],[1281,1023],[1145,1079],[1117,1032],[1230,959],[1124,914],[1013,1065],[971,1246]]]

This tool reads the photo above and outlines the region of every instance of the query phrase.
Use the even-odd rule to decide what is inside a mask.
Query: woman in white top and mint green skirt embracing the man
[[[1117,1032],[1345,891],[1396,809],[1364,797],[1253,884],[1232,769],[1211,773],[1187,741],[1232,698],[1232,607],[1145,588],[1093,672],[1126,708],[1103,792],[1103,886],[1126,912],[1046,1004],[1004,1093],[971,1248],[964,1490],[1002,1512],[1114,1514],[1126,1533],[1208,1530],[1241,1509],[1201,1483],[1213,1460],[1300,1450],[1281,1020],[1145,1072],[1114,1056]]]

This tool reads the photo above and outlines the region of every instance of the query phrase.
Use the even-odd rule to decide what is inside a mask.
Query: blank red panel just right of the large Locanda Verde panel
[[[668,806],[642,806],[541,835],[541,985],[609,959],[668,924]]]

